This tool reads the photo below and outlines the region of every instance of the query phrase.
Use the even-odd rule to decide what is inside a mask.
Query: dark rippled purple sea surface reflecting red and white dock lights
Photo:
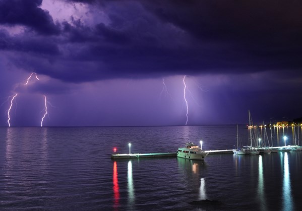
[[[284,145],[283,135],[293,144],[301,128],[272,134],[274,146]],[[238,135],[247,145],[246,126]],[[232,149],[236,126],[0,128],[0,209],[301,209],[302,151],[208,155],[204,162],[110,159],[114,147],[129,153],[130,142],[132,153],[175,152],[201,139],[205,150]],[[221,204],[189,203],[204,199]]]

